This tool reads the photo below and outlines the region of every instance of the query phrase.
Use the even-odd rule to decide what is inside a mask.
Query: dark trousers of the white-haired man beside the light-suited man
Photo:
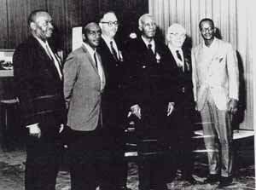
[[[193,150],[193,109],[188,102],[175,107],[168,130],[170,131],[170,145],[175,153],[175,167],[182,172],[183,178],[189,178],[192,175],[194,156]]]

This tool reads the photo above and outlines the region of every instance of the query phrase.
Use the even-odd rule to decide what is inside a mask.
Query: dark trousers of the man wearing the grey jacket
[[[98,186],[101,139],[98,130],[70,130],[68,135],[67,160],[72,190],[95,190]]]

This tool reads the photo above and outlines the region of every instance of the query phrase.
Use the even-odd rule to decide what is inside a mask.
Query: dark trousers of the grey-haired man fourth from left
[[[147,120],[137,121],[138,176],[139,190],[166,189],[170,152],[166,141],[166,122],[148,124]]]

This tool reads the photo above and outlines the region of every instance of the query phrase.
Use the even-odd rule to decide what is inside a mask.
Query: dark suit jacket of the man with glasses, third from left
[[[115,40],[121,59],[115,60],[107,43],[102,39],[97,51],[102,57],[102,66],[106,76],[106,86],[102,93],[103,127],[117,127],[125,121],[124,76],[125,60],[122,46]],[[126,111],[127,114],[127,111]]]

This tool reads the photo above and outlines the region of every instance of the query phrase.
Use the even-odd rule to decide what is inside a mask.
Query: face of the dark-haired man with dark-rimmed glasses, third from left
[[[104,36],[113,38],[119,28],[119,23],[115,14],[105,14],[100,22],[100,27],[102,28],[102,34]]]

